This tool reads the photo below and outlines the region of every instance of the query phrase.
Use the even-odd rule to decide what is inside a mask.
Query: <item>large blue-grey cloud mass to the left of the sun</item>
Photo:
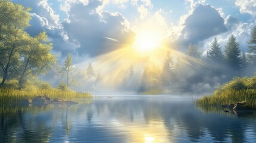
[[[75,52],[80,56],[95,57],[133,42],[134,33],[128,30],[128,21],[120,13],[97,13],[101,5],[100,1],[89,1],[87,5],[70,4],[63,30],[70,39],[79,43]],[[119,44],[104,37],[116,39]]]

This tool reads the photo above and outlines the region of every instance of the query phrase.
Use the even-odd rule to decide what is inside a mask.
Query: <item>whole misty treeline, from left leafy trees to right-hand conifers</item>
[[[256,27],[251,31],[248,52],[241,51],[235,35],[231,35],[221,49],[218,39],[211,42],[206,54],[196,44],[187,46],[182,55],[172,49],[166,52],[162,64],[151,64],[138,69],[127,65],[115,69],[116,74],[104,75],[94,70],[90,63],[87,70],[73,67],[67,55],[63,66],[51,54],[53,44],[45,32],[32,37],[26,32],[31,16],[30,9],[10,1],[0,3],[0,66],[1,86],[26,83],[50,71],[48,78],[55,86],[67,86],[79,91],[135,91],[145,94],[202,94],[211,92],[219,84],[236,76],[253,76],[256,66]],[[44,78],[44,77],[43,77]],[[11,83],[15,84],[11,84]],[[47,85],[48,86],[48,85]]]

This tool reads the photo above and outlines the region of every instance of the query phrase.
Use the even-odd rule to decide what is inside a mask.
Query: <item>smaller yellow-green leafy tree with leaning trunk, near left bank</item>
[[[53,48],[52,43],[48,43],[47,34],[39,33],[32,38],[26,36],[25,46],[20,50],[21,66],[19,84],[24,83],[27,75],[44,74],[55,63],[55,57],[50,53]]]

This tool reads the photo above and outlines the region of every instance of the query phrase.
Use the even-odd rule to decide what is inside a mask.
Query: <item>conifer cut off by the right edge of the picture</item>
[[[252,64],[256,64],[256,26],[252,29],[251,39],[248,42],[249,45],[249,61]]]

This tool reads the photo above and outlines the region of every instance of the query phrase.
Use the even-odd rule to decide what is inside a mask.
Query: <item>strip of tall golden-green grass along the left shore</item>
[[[50,98],[63,98],[65,100],[77,100],[78,98],[91,98],[87,92],[62,91],[60,89],[33,89],[18,90],[14,88],[0,88],[0,104],[13,104],[25,98],[33,99],[37,95],[48,95]]]

